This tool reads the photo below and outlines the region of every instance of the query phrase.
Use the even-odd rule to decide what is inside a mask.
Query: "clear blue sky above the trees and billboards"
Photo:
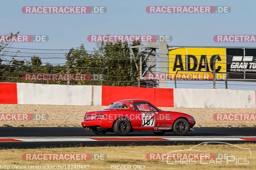
[[[230,13],[220,14],[149,14],[150,5],[230,6]],[[105,14],[24,14],[23,6],[106,6]],[[68,49],[84,44],[92,34],[172,35],[169,46],[251,46],[256,43],[216,43],[217,34],[255,35],[256,2],[253,0],[23,0],[1,1],[0,34],[20,31],[23,35],[48,35],[46,43],[14,43],[12,47]]]

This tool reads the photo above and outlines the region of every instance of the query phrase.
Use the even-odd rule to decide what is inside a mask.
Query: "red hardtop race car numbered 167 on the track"
[[[82,126],[97,135],[115,132],[125,136],[134,131],[152,131],[156,135],[173,132],[186,135],[196,124],[194,117],[180,112],[163,111],[146,100],[119,100],[99,111],[87,112]]]

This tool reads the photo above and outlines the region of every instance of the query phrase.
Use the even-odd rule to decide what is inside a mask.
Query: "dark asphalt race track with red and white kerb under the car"
[[[38,148],[106,145],[199,144],[205,141],[256,143],[255,127],[198,127],[186,136],[133,132],[125,137],[114,133],[95,135],[82,127],[0,127],[0,148]]]

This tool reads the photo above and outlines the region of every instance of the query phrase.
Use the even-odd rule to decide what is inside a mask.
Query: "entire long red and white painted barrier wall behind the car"
[[[0,104],[106,106],[123,99],[158,107],[256,108],[255,91],[0,83]]]

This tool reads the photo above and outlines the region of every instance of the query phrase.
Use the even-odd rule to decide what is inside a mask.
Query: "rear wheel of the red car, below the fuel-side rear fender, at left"
[[[125,136],[131,131],[131,123],[127,120],[117,120],[114,124],[113,130],[116,135]]]

